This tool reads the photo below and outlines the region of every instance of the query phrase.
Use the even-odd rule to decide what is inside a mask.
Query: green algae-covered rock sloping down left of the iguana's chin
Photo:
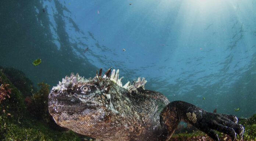
[[[73,131],[56,130],[46,124],[49,85],[39,83],[40,90],[33,94],[33,106],[38,108],[35,113],[28,111],[24,96],[1,70],[0,85],[4,86],[2,92],[8,92],[9,96],[0,103],[1,141],[81,141]],[[36,118],[39,115],[42,118]]]

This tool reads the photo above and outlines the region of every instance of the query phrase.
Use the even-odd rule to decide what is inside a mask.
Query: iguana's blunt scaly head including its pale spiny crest
[[[55,122],[81,134],[91,135],[95,126],[104,129],[107,120],[118,114],[118,103],[124,95],[138,86],[144,86],[145,79],[138,79],[133,85],[122,86],[119,70],[111,68],[102,76],[102,69],[94,78],[85,79],[71,73],[49,94],[49,112]],[[89,133],[89,134],[88,134]]]

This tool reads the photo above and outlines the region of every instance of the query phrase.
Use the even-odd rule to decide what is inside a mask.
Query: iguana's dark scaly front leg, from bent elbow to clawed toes
[[[233,140],[237,134],[243,136],[244,128],[237,124],[236,116],[207,112],[184,101],[169,103],[160,114],[161,126],[168,130],[167,134],[172,134],[181,120],[192,124],[216,141],[219,138],[214,130],[228,134]]]

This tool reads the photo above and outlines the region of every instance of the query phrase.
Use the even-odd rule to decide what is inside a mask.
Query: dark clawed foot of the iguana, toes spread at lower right
[[[242,138],[244,132],[243,126],[237,124],[237,122],[238,118],[234,115],[205,112],[202,115],[202,119],[195,123],[195,126],[216,141],[219,141],[219,138],[214,130],[229,135],[232,137],[232,141],[234,141],[237,134]]]

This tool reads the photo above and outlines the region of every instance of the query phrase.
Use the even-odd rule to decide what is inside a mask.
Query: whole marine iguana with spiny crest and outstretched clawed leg
[[[119,70],[85,79],[71,73],[49,94],[55,122],[97,141],[168,141],[183,120],[218,141],[220,131],[235,140],[244,128],[234,115],[207,112],[184,101],[169,102],[161,93],[146,90],[145,78],[122,85]]]

